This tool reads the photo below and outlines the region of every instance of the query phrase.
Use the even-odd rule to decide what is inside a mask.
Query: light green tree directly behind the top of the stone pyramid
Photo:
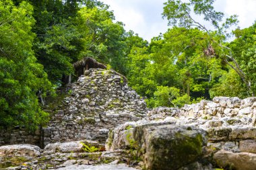
[[[125,30],[116,22],[108,7],[83,7],[79,10],[79,32],[84,42],[84,56],[91,56],[126,74]]]

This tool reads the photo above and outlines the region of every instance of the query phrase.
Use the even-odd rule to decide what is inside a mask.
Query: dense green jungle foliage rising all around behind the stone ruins
[[[147,42],[97,0],[1,0],[0,126],[47,122],[44,97],[56,95],[62,76],[84,56],[125,75],[149,107],[255,95],[256,23],[230,32],[237,16],[224,18],[213,3],[166,0],[162,16],[170,29]]]

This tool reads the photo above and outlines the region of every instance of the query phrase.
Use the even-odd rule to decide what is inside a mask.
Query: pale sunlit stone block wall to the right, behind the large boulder
[[[256,153],[256,97],[214,97],[177,108],[155,108],[144,122],[172,122],[207,132],[215,151]]]

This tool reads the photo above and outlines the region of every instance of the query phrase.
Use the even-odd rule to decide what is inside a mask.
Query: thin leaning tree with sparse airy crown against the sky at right
[[[205,53],[210,56],[214,56],[214,48],[212,48],[212,45],[217,44],[223,51],[221,57],[224,62],[236,71],[239,77],[243,80],[243,83],[247,85],[251,95],[254,95],[250,79],[238,65],[238,62],[232,54],[232,50],[228,48],[224,42],[224,40],[229,36],[228,28],[238,22],[237,16],[232,15],[226,18],[225,22],[222,22],[224,19],[224,13],[215,11],[213,3],[214,0],[189,0],[187,3],[184,3],[181,0],[168,0],[164,3],[164,12],[162,15],[168,19],[168,24],[170,26],[180,26],[185,28],[197,27],[207,32],[209,36],[209,44]],[[214,26],[215,30],[213,31],[222,36],[222,39],[214,40],[211,36],[212,31],[208,30],[203,26],[203,24],[200,24],[193,19],[191,15],[192,13],[195,13],[195,15],[203,15],[203,19]]]

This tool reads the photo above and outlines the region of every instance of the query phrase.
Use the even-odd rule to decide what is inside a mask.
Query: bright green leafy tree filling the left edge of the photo
[[[36,94],[51,91],[51,83],[32,51],[33,7],[3,0],[0,13],[0,126],[36,128],[48,118]]]

